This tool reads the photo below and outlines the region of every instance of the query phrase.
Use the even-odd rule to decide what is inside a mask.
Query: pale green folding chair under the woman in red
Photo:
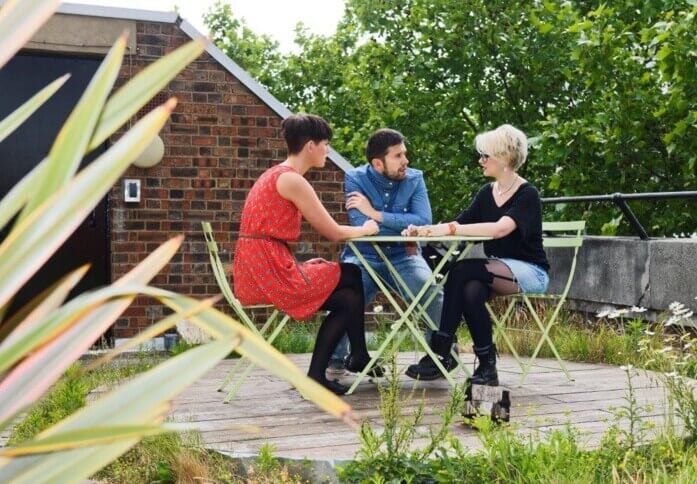
[[[218,282],[218,286],[220,287],[220,291],[223,293],[223,296],[225,296],[225,299],[227,300],[228,304],[230,304],[230,307],[232,307],[232,310],[235,312],[235,315],[239,318],[240,321],[246,324],[247,327],[249,327],[249,329],[256,333],[258,336],[265,338],[269,344],[273,343],[273,341],[280,334],[281,330],[290,319],[290,316],[283,315],[283,317],[280,317],[281,312],[274,306],[268,304],[258,304],[252,306],[242,305],[239,299],[237,299],[235,297],[235,294],[232,292],[232,288],[230,287],[228,278],[225,275],[225,269],[223,267],[223,263],[220,261],[218,244],[215,242],[215,238],[213,237],[213,230],[211,229],[211,224],[209,222],[201,222],[201,227],[203,228],[203,236],[206,238],[206,245],[208,247],[208,255],[211,260],[213,274],[215,275],[215,280]],[[273,309],[273,311],[271,312],[261,329],[257,328],[252,318],[250,318],[247,314],[248,311],[252,311],[255,309]],[[274,327],[271,334],[268,335],[267,339],[266,333],[270,328],[273,327],[274,324],[276,326]],[[230,402],[230,400],[232,400],[232,398],[235,396],[244,380],[247,378],[247,376],[249,376],[249,373],[254,368],[253,363],[247,363],[247,367],[241,373],[239,373],[239,377],[233,382],[235,375],[238,374],[241,366],[244,363],[246,363],[244,359],[240,358],[240,361],[238,361],[237,364],[232,368],[232,370],[230,370],[230,373],[228,373],[228,375],[223,380],[223,383],[218,388],[218,391],[223,392],[230,384],[232,384],[232,387],[225,396],[225,399],[223,400],[225,403],[228,403]]]

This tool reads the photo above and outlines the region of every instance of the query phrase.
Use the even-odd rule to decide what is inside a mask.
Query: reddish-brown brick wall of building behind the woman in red
[[[176,25],[138,22],[137,50],[124,60],[119,83],[188,40]],[[123,180],[109,196],[112,278],[125,274],[169,238],[184,234],[181,249],[153,283],[202,298],[219,290],[200,222],[211,222],[221,257],[229,264],[247,192],[264,170],[285,159],[285,143],[281,118],[207,53],[150,107],[170,96],[179,103],[160,133],[164,160],[153,168],[132,167],[124,175],[141,180],[141,201],[124,202]],[[330,213],[345,223],[343,171],[327,163],[308,178]],[[300,259],[338,258],[339,246],[322,241],[307,224],[295,248]],[[133,336],[166,313],[156,301],[139,297],[117,321],[114,337]]]

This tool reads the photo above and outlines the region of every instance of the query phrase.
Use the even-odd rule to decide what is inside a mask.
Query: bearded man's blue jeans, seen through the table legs
[[[403,293],[403,291],[400,290],[401,286],[397,283],[397,281],[394,280],[392,274],[390,274],[389,269],[381,259],[366,257],[366,261],[370,264],[373,270],[377,272],[377,274],[382,278],[382,280],[385,281],[390,288],[392,288],[392,290],[399,294]],[[361,273],[363,274],[363,294],[365,297],[365,303],[372,303],[373,299],[375,299],[375,295],[377,294],[379,288],[375,284],[375,281],[373,281],[373,279],[370,277],[370,274],[368,274],[368,271],[366,271],[363,268],[363,265],[360,263],[360,261],[356,258],[355,255],[345,257],[344,260],[342,260],[342,262],[356,264],[358,267],[361,268]],[[421,254],[404,255],[399,258],[392,259],[392,265],[397,270],[399,275],[402,277],[407,287],[409,287],[411,293],[415,296],[421,290],[426,280],[429,277],[431,277],[431,268],[428,267],[428,264],[426,264],[424,258],[421,257]],[[434,283],[431,285],[431,288],[426,292],[426,294],[421,300],[428,300],[428,298],[434,290],[437,290],[438,292],[431,301],[431,304],[429,304],[428,308],[426,308],[426,312],[428,313],[436,327],[438,327],[440,325],[440,313],[443,309],[442,289],[437,288],[434,281]],[[411,301],[411,298],[407,298],[406,295],[404,295],[404,299],[407,302]],[[424,329],[426,341],[430,341],[431,330],[429,328]],[[344,337],[341,338],[341,341],[339,341],[339,344],[336,346],[336,349],[334,350],[334,354],[331,358],[332,361],[337,363],[339,361],[342,361],[343,358],[346,355],[348,355],[348,347],[348,336],[344,335]]]

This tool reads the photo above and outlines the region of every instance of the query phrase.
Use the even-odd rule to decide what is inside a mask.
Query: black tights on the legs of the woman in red
[[[358,361],[367,362],[370,359],[365,343],[365,303],[361,270],[355,264],[342,263],[340,267],[339,284],[320,308],[329,310],[329,314],[317,332],[315,349],[307,372],[315,380],[324,379],[329,358],[344,334],[348,333],[351,352]]]

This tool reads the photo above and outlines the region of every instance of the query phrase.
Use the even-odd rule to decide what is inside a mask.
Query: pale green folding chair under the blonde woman
[[[491,309],[491,306],[487,304],[487,309],[489,310],[489,314],[491,315],[491,318],[494,322],[494,337],[501,336],[506,347],[509,349],[509,351],[523,370],[523,374],[521,375],[520,379],[520,385],[522,385],[525,379],[527,378],[528,373],[530,372],[530,369],[532,368],[533,363],[537,358],[537,355],[539,354],[540,350],[542,349],[542,346],[545,343],[552,350],[552,353],[559,362],[559,366],[561,367],[561,370],[564,372],[564,375],[566,375],[566,378],[569,381],[573,381],[573,378],[571,378],[571,374],[567,370],[564,361],[559,356],[557,348],[554,346],[554,342],[549,337],[549,332],[552,329],[552,327],[555,324],[557,324],[559,312],[561,311],[564,302],[566,302],[566,297],[569,294],[569,289],[571,288],[571,283],[573,281],[574,273],[576,271],[576,258],[578,256],[578,251],[581,248],[581,245],[583,244],[583,233],[585,228],[586,222],[583,220],[570,222],[542,223],[542,232],[543,234],[545,234],[542,239],[542,244],[545,248],[559,247],[573,249],[573,257],[571,260],[571,267],[569,268],[569,275],[567,277],[564,290],[561,294],[521,293],[505,296],[510,299],[510,302],[508,304],[508,307],[506,308],[506,311],[504,311],[503,316],[501,316],[500,318],[496,317],[493,310]],[[546,320],[543,321],[537,314],[537,311],[535,310],[535,307],[532,304],[532,300],[547,300],[554,302],[554,310]],[[535,350],[532,352],[532,355],[530,356],[527,362],[524,362],[521,359],[521,357],[518,355],[518,352],[515,349],[515,346],[513,345],[513,342],[511,341],[510,337],[506,334],[506,330],[511,329],[507,327],[507,323],[514,313],[513,310],[521,302],[530,312],[532,319],[535,321],[535,324],[539,328],[540,334],[540,340],[535,346]]]

